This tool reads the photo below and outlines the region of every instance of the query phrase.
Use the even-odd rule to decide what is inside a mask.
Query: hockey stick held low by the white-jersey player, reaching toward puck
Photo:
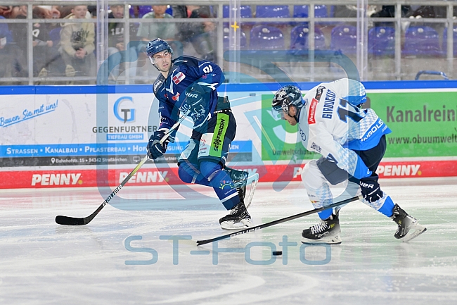
[[[271,225],[277,225],[278,223],[285,223],[286,221],[290,221],[290,220],[294,220],[294,219],[297,219],[297,218],[300,218],[300,217],[303,217],[303,216],[308,216],[308,215],[311,215],[311,214],[314,214],[314,213],[318,213],[318,212],[321,212],[321,211],[326,210],[328,208],[335,208],[336,206],[342,206],[343,204],[349,204],[349,202],[356,201],[356,200],[359,200],[359,199],[361,200],[361,199],[363,199],[363,197],[361,195],[360,196],[356,196],[356,197],[352,197],[352,198],[349,198],[349,199],[346,199],[346,200],[342,200],[340,202],[336,202],[335,204],[330,204],[328,206],[323,206],[321,208],[314,208],[314,210],[310,210],[310,211],[306,211],[306,212],[303,212],[303,213],[300,213],[300,214],[295,214],[295,215],[292,215],[292,216],[289,216],[289,217],[285,217],[285,218],[281,218],[281,219],[278,219],[278,220],[274,220],[274,221],[271,221],[269,223],[263,223],[262,225],[256,225],[255,227],[246,228],[245,230],[240,230],[238,232],[233,232],[231,234],[222,235],[222,236],[219,236],[219,237],[214,237],[212,239],[198,240],[197,241],[197,246],[201,246],[202,244],[209,244],[210,242],[217,242],[218,240],[226,239],[228,237],[233,237],[233,236],[236,236],[236,235],[242,235],[242,234],[245,234],[245,233],[254,232],[254,231],[257,231],[257,230],[260,230],[260,229],[263,229],[263,228],[268,228],[268,227],[271,227]]]

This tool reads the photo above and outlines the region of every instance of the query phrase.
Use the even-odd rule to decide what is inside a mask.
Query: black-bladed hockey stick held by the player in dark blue
[[[184,113],[184,116],[179,118],[179,120],[167,131],[165,132],[165,135],[163,135],[162,139],[160,139],[160,144],[165,142],[166,139],[168,139],[169,135],[181,124],[181,122],[186,118],[186,116],[190,113],[191,111],[188,110],[186,113]],[[88,223],[91,222],[92,219],[97,216],[98,213],[100,213],[101,209],[105,207],[108,202],[112,199],[112,197],[115,197],[117,193],[124,187],[124,185],[129,182],[130,178],[133,177],[133,175],[136,174],[136,172],[143,166],[144,163],[148,161],[148,156],[146,155],[143,160],[141,160],[140,163],[134,168],[134,170],[129,173],[129,175],[121,182],[121,184],[115,188],[114,191],[110,194],[110,196],[106,197],[105,201],[101,204],[101,206],[98,206],[96,211],[94,213],[91,213],[91,215],[84,217],[84,218],[75,218],[75,217],[68,217],[68,216],[56,216],[56,223],[59,225],[87,225]]]

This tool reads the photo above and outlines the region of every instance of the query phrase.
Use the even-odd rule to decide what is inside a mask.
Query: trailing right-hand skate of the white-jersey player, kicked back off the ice
[[[427,228],[418,223],[416,218],[409,216],[408,213],[400,208],[398,204],[395,204],[391,218],[398,225],[394,237],[401,239],[403,242],[409,242],[427,230]]]

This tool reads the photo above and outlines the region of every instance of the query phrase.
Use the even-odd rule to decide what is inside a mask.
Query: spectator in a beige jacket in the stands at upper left
[[[87,6],[75,6],[72,13],[65,19],[84,19],[86,13]],[[65,75],[67,77],[95,76],[94,41],[94,23],[63,23],[60,31],[59,51],[66,65]]]

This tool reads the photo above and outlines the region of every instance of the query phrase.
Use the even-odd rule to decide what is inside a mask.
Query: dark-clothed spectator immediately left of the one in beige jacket
[[[47,8],[35,6],[33,18],[53,18],[53,13]],[[33,24],[33,75],[46,77],[51,72],[54,75],[63,74],[64,63],[56,46],[53,45],[49,32],[53,29],[51,23]]]

